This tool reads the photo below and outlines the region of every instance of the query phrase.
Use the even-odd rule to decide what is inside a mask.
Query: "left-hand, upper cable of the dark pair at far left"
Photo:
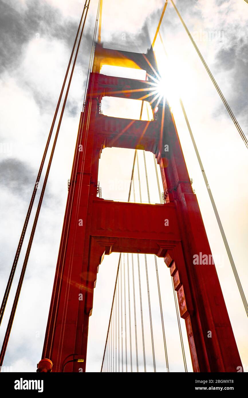
[[[39,182],[40,182],[40,179],[41,179],[43,166],[44,166],[44,163],[45,163],[45,159],[46,159],[46,156],[47,156],[47,151],[48,151],[49,144],[50,144],[50,141],[51,141],[51,137],[52,137],[52,134],[53,134],[55,121],[57,119],[59,106],[61,104],[61,99],[62,99],[62,95],[63,95],[63,92],[64,92],[64,87],[65,87],[66,80],[67,80],[67,77],[68,77],[68,73],[69,73],[69,70],[70,70],[70,65],[71,65],[73,54],[74,54],[74,50],[75,50],[75,47],[76,47],[76,42],[78,40],[78,34],[80,32],[80,27],[81,27],[81,24],[82,24],[82,20],[83,20],[84,11],[85,11],[85,8],[86,8],[87,1],[88,0],[86,0],[86,2],[84,4],[84,9],[83,9],[82,16],[81,16],[81,19],[80,19],[80,23],[79,23],[79,26],[78,26],[78,31],[77,31],[77,34],[76,34],[76,38],[75,38],[75,41],[74,41],[72,52],[71,52],[71,55],[70,55],[70,60],[68,62],[68,66],[67,66],[67,69],[66,69],[66,74],[64,76],[64,82],[62,84],[61,92],[60,92],[60,95],[59,95],[59,100],[57,102],[57,107],[56,107],[56,110],[55,110],[55,114],[53,116],[53,121],[52,121],[52,124],[51,124],[49,135],[47,137],[47,143],[46,143],[46,146],[45,146],[45,150],[44,150],[43,157],[42,157],[42,160],[41,160],[41,164],[40,164],[40,167],[39,167],[39,171],[38,171],[38,174],[37,174],[35,185],[34,185],[34,188],[33,188],[33,193],[32,193],[31,199],[30,199],[29,207],[27,209],[27,214],[26,214],[26,218],[25,218],[25,221],[24,221],[24,224],[23,224],[23,229],[21,231],[20,240],[19,240],[19,243],[18,243],[18,246],[17,246],[17,249],[16,249],[16,255],[15,255],[15,258],[14,258],[14,261],[13,261],[12,269],[10,271],[10,276],[9,276],[9,279],[8,279],[8,282],[7,282],[6,290],[4,292],[4,297],[2,299],[2,304],[1,304],[1,308],[0,308],[0,325],[1,325],[1,322],[2,322],[2,318],[4,316],[4,310],[6,308],[6,304],[7,304],[7,301],[8,301],[8,297],[9,297],[10,289],[11,289],[12,282],[13,282],[13,279],[14,279],[14,274],[15,274],[15,271],[16,271],[18,259],[20,257],[20,252],[21,252],[23,240],[25,238],[25,233],[26,233],[26,230],[27,230],[27,225],[28,225],[28,222],[29,222],[31,211],[32,211],[32,208],[33,208],[33,203],[34,203],[34,200],[35,200],[37,188],[39,187]]]

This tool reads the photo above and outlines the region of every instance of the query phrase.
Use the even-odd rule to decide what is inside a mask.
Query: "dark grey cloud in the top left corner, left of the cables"
[[[37,35],[63,40],[71,48],[77,28],[75,21],[64,19],[46,2],[29,0],[22,11],[0,2],[0,71],[18,66],[23,46]]]

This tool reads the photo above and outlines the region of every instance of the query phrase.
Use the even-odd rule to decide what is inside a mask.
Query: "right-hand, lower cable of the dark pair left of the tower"
[[[66,94],[65,94],[65,97],[64,97],[64,102],[63,102],[63,105],[62,105],[61,115],[60,115],[60,118],[59,118],[59,123],[58,123],[57,131],[56,131],[55,139],[54,139],[54,142],[53,142],[53,147],[52,147],[52,150],[51,150],[49,163],[48,163],[48,166],[47,166],[47,172],[46,172],[45,179],[44,179],[44,182],[43,182],[43,187],[42,187],[42,190],[41,190],[41,196],[39,198],[39,203],[38,203],[38,206],[37,206],[35,219],[33,221],[33,227],[32,227],[32,230],[31,230],[29,243],[28,243],[28,246],[27,246],[27,251],[26,251],[26,254],[25,254],[24,261],[23,261],[23,267],[21,269],[21,275],[20,275],[18,287],[16,289],[16,295],[15,295],[15,298],[14,298],[14,303],[13,303],[13,306],[12,306],[12,310],[11,310],[11,313],[10,313],[10,319],[9,319],[8,326],[7,326],[7,329],[6,329],[6,334],[4,336],[4,341],[3,341],[2,350],[1,350],[1,354],[0,354],[0,366],[2,366],[2,363],[3,363],[3,360],[4,360],[4,355],[5,355],[5,352],[6,352],[7,345],[8,345],[8,340],[9,340],[9,337],[10,337],[10,332],[11,332],[12,324],[13,324],[13,321],[14,321],[14,316],[15,316],[15,313],[16,313],[18,300],[19,300],[19,297],[20,297],[20,292],[21,292],[21,287],[22,287],[22,283],[23,283],[26,267],[27,267],[27,262],[28,262],[28,259],[29,259],[31,246],[32,246],[32,243],[33,243],[33,237],[34,237],[34,234],[35,234],[35,229],[36,229],[38,218],[39,218],[39,213],[40,213],[40,209],[41,209],[41,205],[42,205],[42,201],[43,201],[43,197],[44,197],[44,193],[45,193],[45,188],[46,188],[46,185],[47,185],[47,180],[48,180],[48,176],[49,176],[49,172],[50,172],[50,168],[51,168],[51,163],[52,163],[52,160],[53,160],[53,154],[54,154],[54,151],[55,151],[55,147],[56,147],[56,143],[57,143],[57,139],[58,139],[58,135],[59,135],[59,130],[60,130],[60,127],[61,127],[62,117],[63,117],[63,114],[64,114],[64,109],[65,109],[66,101],[67,101],[67,98],[68,98],[68,92],[69,92],[69,89],[70,89],[70,84],[71,84],[71,80],[72,80],[72,76],[73,76],[73,72],[74,72],[74,68],[75,68],[75,64],[76,64],[78,50],[79,50],[81,39],[82,39],[82,33],[83,33],[83,30],[84,30],[86,17],[87,17],[87,14],[88,14],[89,4],[90,4],[90,0],[88,0],[88,5],[86,6],[87,10],[86,10],[84,22],[83,22],[83,25],[82,25],[82,30],[81,30],[80,38],[79,38],[79,41],[78,41],[78,46],[77,46],[77,49],[76,49],[76,54],[75,54],[75,57],[74,57],[74,62],[73,62],[73,65],[72,65],[72,70],[71,70],[71,74],[70,74],[70,78],[69,78]]]

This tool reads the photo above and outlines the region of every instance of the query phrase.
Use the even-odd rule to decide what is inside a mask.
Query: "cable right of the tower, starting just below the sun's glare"
[[[243,291],[243,288],[242,288],[242,285],[241,285],[241,282],[240,282],[240,279],[239,279],[239,276],[238,276],[238,272],[237,272],[237,269],[236,269],[234,260],[233,260],[233,258],[232,258],[232,254],[231,254],[231,252],[230,252],[230,248],[229,248],[229,245],[228,245],[228,242],[227,242],[227,237],[226,237],[226,235],[225,235],[225,232],[224,232],[224,229],[223,229],[223,226],[222,226],[222,223],[221,223],[221,219],[220,219],[220,217],[219,217],[219,213],[218,213],[218,211],[217,211],[217,207],[216,207],[216,205],[215,205],[215,201],[214,201],[214,199],[213,199],[213,195],[212,195],[211,189],[210,189],[210,187],[209,187],[209,183],[208,183],[208,180],[207,180],[207,176],[206,176],[206,174],[205,174],[205,171],[204,171],[204,168],[203,168],[203,164],[202,164],[202,162],[201,162],[201,158],[200,158],[200,155],[199,155],[199,152],[198,152],[196,143],[195,143],[195,139],[194,139],[194,137],[193,137],[193,133],[192,133],[191,127],[190,127],[190,125],[189,125],[189,121],[188,121],[188,118],[187,118],[187,115],[186,115],[186,111],[185,111],[185,109],[184,109],[184,105],[183,105],[183,102],[182,102],[181,98],[180,98],[180,104],[181,104],[182,111],[183,111],[183,113],[184,113],[184,117],[185,117],[185,120],[186,120],[186,123],[187,123],[187,127],[188,127],[188,130],[189,130],[189,135],[190,135],[190,137],[191,137],[191,140],[192,140],[192,143],[193,143],[193,146],[194,146],[194,149],[195,149],[195,153],[196,153],[196,156],[197,156],[197,159],[198,159],[200,168],[201,168],[201,172],[202,172],[202,175],[203,175],[203,178],[204,178],[204,181],[205,181],[205,185],[206,185],[207,191],[208,191],[208,193],[209,193],[209,197],[210,197],[210,200],[211,200],[211,203],[212,203],[212,206],[213,206],[213,210],[214,210],[214,212],[215,212],[215,216],[216,216],[216,219],[217,219],[217,222],[218,222],[220,231],[221,231],[221,236],[222,236],[222,238],[223,238],[223,242],[224,242],[225,248],[226,248],[226,250],[227,250],[228,258],[229,258],[229,260],[230,260],[230,264],[231,264],[231,267],[232,267],[232,271],[233,271],[233,273],[234,273],[234,277],[235,277],[235,280],[236,280],[236,283],[237,283],[237,286],[238,286],[238,290],[239,290],[239,292],[240,292],[240,296],[241,296],[241,298],[242,298],[242,302],[243,302],[244,308],[245,308],[245,310],[246,310],[246,315],[248,316],[248,304],[247,304],[247,300],[246,300],[246,297],[245,297],[245,294],[244,294],[244,291]]]

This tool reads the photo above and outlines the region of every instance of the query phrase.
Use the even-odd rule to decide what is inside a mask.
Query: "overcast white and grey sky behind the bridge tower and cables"
[[[146,53],[152,42],[163,4],[162,0],[125,2],[103,0],[101,39],[104,46]],[[236,119],[247,134],[248,4],[244,0],[207,2],[178,0],[176,5]],[[81,0],[0,0],[1,300],[82,7]],[[97,1],[91,0],[43,209],[6,351],[4,365],[12,367],[13,371],[35,371],[36,364],[41,358],[66,204],[67,179],[70,178],[82,110],[96,9]],[[168,60],[163,56],[159,39],[155,51],[161,74],[168,85],[166,95],[176,120],[189,176],[193,178],[193,188],[197,194],[213,256],[223,258],[221,266],[217,266],[217,272],[241,359],[248,368],[247,317],[180,109],[179,97],[181,96],[184,101],[246,297],[248,297],[247,149],[171,4],[167,6],[160,32],[168,52]],[[217,35],[213,37],[211,32],[217,32]],[[107,68],[102,72],[111,74],[111,70]],[[128,117],[130,111],[128,105],[118,108],[111,101],[105,101],[102,109],[103,113],[116,116],[121,111],[123,117]],[[147,161],[152,164],[149,154],[147,156]],[[121,157],[123,160],[120,161]],[[113,181],[120,179],[128,181],[131,176],[132,158],[132,151],[118,152],[113,148],[103,151],[99,170],[103,198],[127,198],[127,184],[124,183],[121,189],[115,184],[113,189]],[[154,197],[153,201],[158,202],[158,198]],[[30,221],[32,222],[33,218]],[[27,239],[23,245],[23,254],[20,256],[12,293],[1,326],[1,342],[26,246]],[[87,371],[100,370],[117,259],[117,254],[105,256],[98,274],[94,309],[90,318]],[[148,262],[151,273],[152,261],[150,258]],[[166,319],[166,338],[170,342],[169,363],[172,371],[183,371],[180,350],[175,353],[173,349],[179,340],[175,311],[172,312],[174,308],[172,308],[171,281],[169,273],[166,272],[168,270],[164,269],[161,261],[158,262],[158,267],[161,279],[164,281],[162,300]],[[155,285],[154,287],[152,285],[151,292],[155,297]],[[154,325],[155,329],[156,325],[159,325],[155,298]],[[183,320],[182,328],[185,336]],[[163,358],[160,357],[159,345],[156,346],[156,350],[159,357],[158,370],[163,371]],[[188,349],[186,351],[189,364]]]

